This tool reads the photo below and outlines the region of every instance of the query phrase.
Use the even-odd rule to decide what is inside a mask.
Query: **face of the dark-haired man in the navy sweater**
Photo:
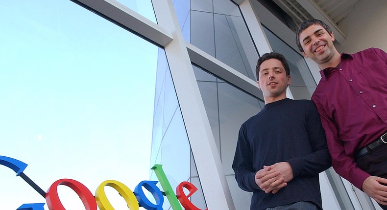
[[[264,61],[259,68],[258,88],[264,94],[265,104],[286,98],[286,88],[290,85],[290,75],[277,59]]]

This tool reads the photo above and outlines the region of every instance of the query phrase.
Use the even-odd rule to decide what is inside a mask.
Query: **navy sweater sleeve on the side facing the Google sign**
[[[253,157],[243,125],[239,130],[232,168],[235,172],[235,179],[241,189],[249,192],[260,189],[254,180]]]

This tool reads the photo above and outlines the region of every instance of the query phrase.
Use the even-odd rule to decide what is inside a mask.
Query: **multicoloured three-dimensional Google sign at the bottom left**
[[[184,181],[176,187],[175,194],[164,173],[162,165],[156,164],[151,169],[154,170],[164,192],[156,186],[158,181],[142,181],[136,186],[133,192],[119,181],[106,180],[97,187],[95,196],[82,183],[73,179],[59,179],[52,183],[47,192],[45,192],[23,173],[27,164],[22,161],[6,156],[0,156],[0,165],[14,170],[16,176],[22,177],[24,181],[46,198],[49,210],[65,210],[57,191],[59,185],[64,185],[73,189],[81,199],[85,210],[97,210],[97,206],[100,210],[114,210],[105,194],[105,186],[117,190],[125,200],[129,210],[139,210],[140,206],[144,207],[146,210],[163,210],[164,196],[167,197],[172,210],[183,210],[181,206],[183,206],[185,210],[200,210],[189,200],[189,197],[197,191],[197,188],[192,183]],[[152,194],[155,203],[149,201],[145,196],[143,187]],[[188,195],[185,194],[184,189],[189,191]],[[45,203],[23,204],[17,210],[44,210],[44,205]]]

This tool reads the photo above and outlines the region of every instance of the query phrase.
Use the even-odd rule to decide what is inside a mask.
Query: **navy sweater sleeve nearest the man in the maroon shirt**
[[[293,170],[293,177],[316,175],[331,167],[331,156],[328,151],[324,129],[320,116],[313,102],[306,112],[306,126],[313,152],[304,157],[288,160]]]

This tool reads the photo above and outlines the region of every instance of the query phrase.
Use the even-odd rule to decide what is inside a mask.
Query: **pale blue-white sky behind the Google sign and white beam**
[[[150,0],[119,2],[155,22]],[[70,0],[0,1],[0,21],[0,156],[28,164],[45,191],[63,178],[93,194],[105,180],[132,191],[148,180],[158,47]],[[15,175],[0,166],[1,209],[46,202]]]

